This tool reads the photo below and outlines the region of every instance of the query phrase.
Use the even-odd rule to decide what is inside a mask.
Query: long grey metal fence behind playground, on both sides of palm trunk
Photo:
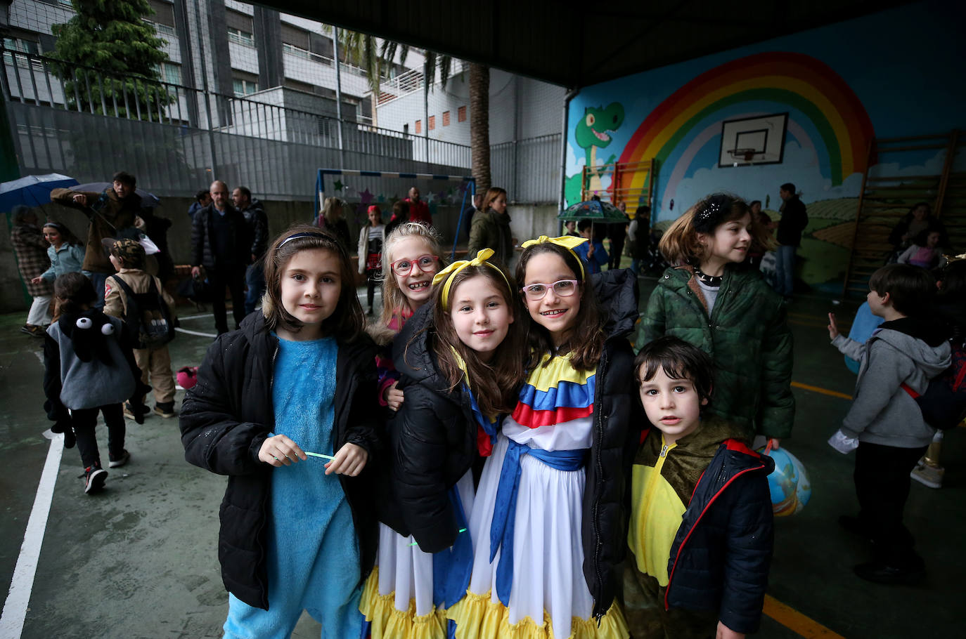
[[[313,198],[315,170],[469,173],[468,146],[335,117],[334,100],[277,87],[225,96],[0,47],[0,90],[24,174],[103,181],[119,169],[159,196],[213,179],[261,197]],[[560,135],[491,147],[493,183],[514,202],[556,202]]]

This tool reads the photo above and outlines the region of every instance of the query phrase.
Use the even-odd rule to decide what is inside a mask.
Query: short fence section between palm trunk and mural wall
[[[560,196],[560,134],[541,135],[490,147],[493,184],[512,202],[555,204]]]

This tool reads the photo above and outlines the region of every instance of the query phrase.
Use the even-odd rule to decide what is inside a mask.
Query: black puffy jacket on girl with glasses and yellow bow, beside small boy
[[[634,351],[627,336],[638,319],[638,278],[628,268],[593,276],[607,339],[597,365],[594,431],[583,491],[583,577],[593,614],[607,613],[621,580],[627,550],[627,475],[645,423],[634,382]]]

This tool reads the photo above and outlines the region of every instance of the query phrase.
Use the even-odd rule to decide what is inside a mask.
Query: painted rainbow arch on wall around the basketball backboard
[[[644,118],[617,161],[657,158],[656,202],[664,203],[689,175],[698,152],[719,139],[724,120],[782,110],[791,114],[788,135],[814,150],[833,186],[866,170],[874,131],[862,102],[825,63],[782,51],[738,58],[696,76]],[[639,188],[643,181],[625,180],[620,186]]]

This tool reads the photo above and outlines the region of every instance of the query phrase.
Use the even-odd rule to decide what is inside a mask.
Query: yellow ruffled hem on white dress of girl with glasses
[[[456,639],[628,639],[630,636],[616,602],[601,619],[599,627],[593,619],[574,617],[570,636],[556,637],[550,614],[546,611],[542,624],[529,617],[511,624],[509,611],[492,598],[491,593],[476,595],[468,592],[449,608],[447,616],[456,622]],[[373,639],[375,637],[374,634]]]

